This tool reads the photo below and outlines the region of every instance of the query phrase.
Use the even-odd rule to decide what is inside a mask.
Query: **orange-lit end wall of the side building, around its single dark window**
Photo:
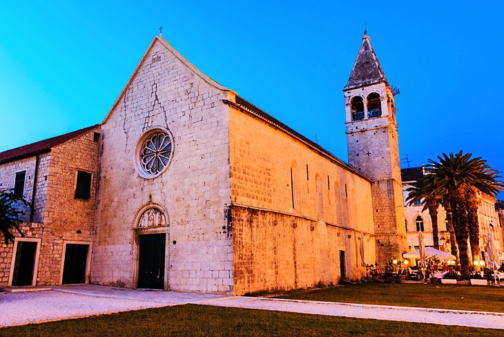
[[[99,129],[95,129],[99,132]],[[52,148],[37,285],[58,285],[64,242],[93,242],[99,141],[95,131]],[[90,198],[75,198],[77,171],[92,174]]]

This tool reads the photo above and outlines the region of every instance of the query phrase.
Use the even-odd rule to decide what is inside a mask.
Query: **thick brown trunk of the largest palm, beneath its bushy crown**
[[[458,242],[458,256],[461,260],[461,276],[469,278],[469,252],[467,251],[467,211],[465,209],[465,193],[459,188],[449,193],[449,202],[452,205],[455,235]]]

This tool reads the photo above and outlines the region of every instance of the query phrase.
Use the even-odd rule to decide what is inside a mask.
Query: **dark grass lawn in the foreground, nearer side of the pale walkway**
[[[22,313],[20,313],[22,314]],[[503,330],[181,305],[0,329],[0,336],[503,336]]]

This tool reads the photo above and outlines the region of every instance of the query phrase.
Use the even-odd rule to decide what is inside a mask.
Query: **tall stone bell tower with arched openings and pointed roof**
[[[345,93],[348,161],[373,180],[376,260],[407,250],[394,91],[365,32]]]

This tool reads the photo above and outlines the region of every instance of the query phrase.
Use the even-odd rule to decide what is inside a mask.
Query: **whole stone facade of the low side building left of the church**
[[[23,198],[35,201],[21,224],[24,237],[16,234],[14,244],[0,246],[0,286],[12,284],[13,251],[24,241],[37,242],[34,285],[61,284],[65,242],[92,242],[97,159],[98,142],[90,130],[43,153],[0,164],[1,188],[13,189],[15,173],[26,171]],[[77,171],[81,170],[95,177],[89,200],[75,198]]]

